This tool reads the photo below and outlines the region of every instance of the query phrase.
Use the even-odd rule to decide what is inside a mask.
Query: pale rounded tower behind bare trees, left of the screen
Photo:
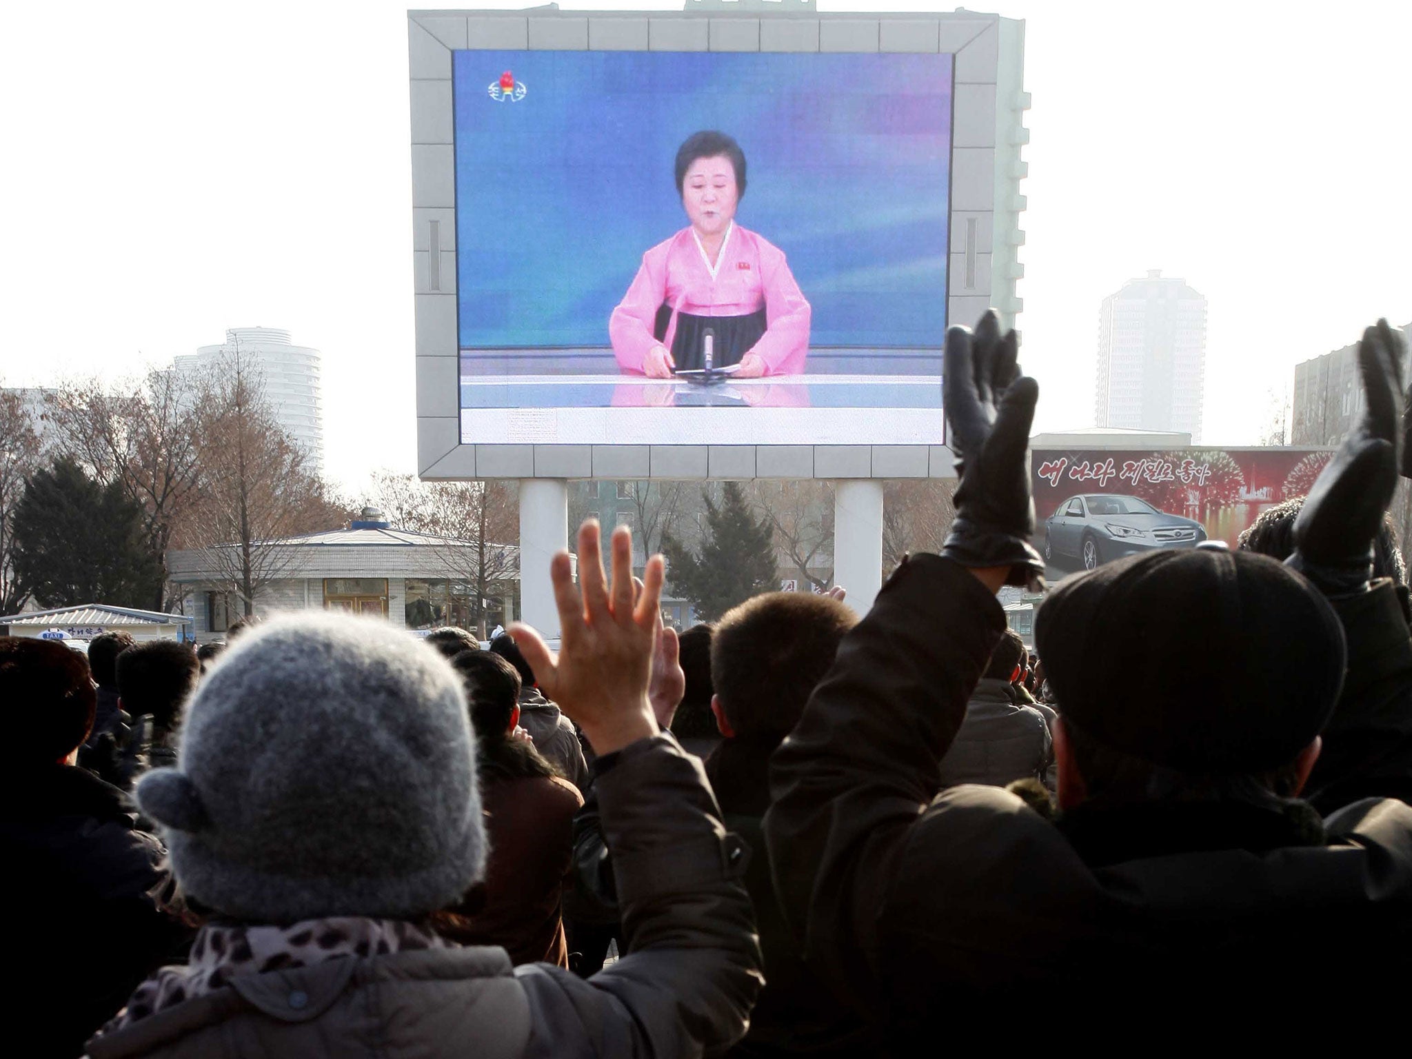
[[[178,371],[219,361],[239,349],[249,364],[258,367],[265,398],[280,425],[287,429],[323,469],[323,398],[319,385],[319,350],[295,346],[280,328],[232,328],[219,346],[202,346],[195,353],[172,359]]]

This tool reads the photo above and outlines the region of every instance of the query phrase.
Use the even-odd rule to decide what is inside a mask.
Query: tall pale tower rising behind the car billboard
[[[1206,298],[1154,268],[1103,299],[1096,424],[1202,436]]]

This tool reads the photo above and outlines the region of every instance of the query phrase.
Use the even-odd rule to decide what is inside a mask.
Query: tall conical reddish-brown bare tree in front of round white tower
[[[182,542],[250,616],[271,582],[298,576],[302,552],[287,538],[345,515],[275,421],[260,370],[239,347],[215,367],[196,419],[201,486]]]

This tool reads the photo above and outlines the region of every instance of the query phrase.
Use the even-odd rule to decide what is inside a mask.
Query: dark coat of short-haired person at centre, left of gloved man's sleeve
[[[805,967],[798,942],[775,899],[761,827],[770,808],[770,754],[778,738],[727,738],[706,758],[706,777],[726,826],[751,849],[746,890],[755,905],[765,988],[750,1017],[750,1032],[731,1056],[867,1055],[863,1021],[833,1003],[827,988]]]

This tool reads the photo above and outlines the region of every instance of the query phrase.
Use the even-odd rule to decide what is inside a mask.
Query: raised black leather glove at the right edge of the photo
[[[1398,484],[1402,336],[1387,321],[1363,332],[1358,376],[1365,398],[1363,415],[1305,497],[1295,520],[1295,554],[1285,561],[1326,596],[1346,596],[1367,586],[1372,544]]]

